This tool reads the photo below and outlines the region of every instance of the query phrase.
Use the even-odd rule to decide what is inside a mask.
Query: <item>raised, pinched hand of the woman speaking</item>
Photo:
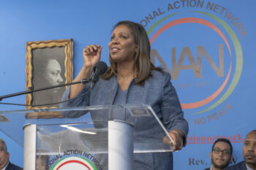
[[[83,49],[83,66],[93,67],[100,59],[102,47],[100,45],[88,45]]]

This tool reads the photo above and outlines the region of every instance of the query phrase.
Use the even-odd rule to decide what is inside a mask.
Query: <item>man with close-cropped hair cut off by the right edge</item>
[[[256,130],[246,135],[243,156],[244,161],[228,167],[227,170],[256,170]]]

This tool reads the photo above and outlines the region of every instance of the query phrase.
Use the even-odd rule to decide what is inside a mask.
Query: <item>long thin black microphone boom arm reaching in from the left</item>
[[[0,101],[3,98],[10,98],[10,97],[14,97],[14,96],[20,96],[20,95],[23,95],[23,94],[34,93],[34,92],[37,92],[37,91],[48,90],[48,89],[51,89],[51,88],[59,88],[59,87],[63,87],[63,86],[66,86],[66,85],[75,85],[75,84],[79,84],[79,83],[85,84],[86,82],[91,82],[91,81],[93,81],[93,79],[89,78],[89,79],[83,79],[83,80],[78,81],[78,82],[70,82],[70,83],[61,84],[61,85],[52,85],[52,86],[48,86],[48,87],[45,87],[45,88],[34,89],[33,87],[29,87],[29,90],[26,90],[26,91],[0,96]]]

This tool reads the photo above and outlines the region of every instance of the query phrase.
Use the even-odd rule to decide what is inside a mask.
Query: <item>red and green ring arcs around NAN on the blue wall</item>
[[[209,22],[206,19],[201,19],[201,18],[178,18],[176,20],[172,20],[169,23],[165,23],[164,26],[159,28],[156,31],[157,26],[159,26],[160,23],[163,23],[164,21],[166,22],[167,18],[173,17],[174,15],[181,14],[181,12],[174,13],[172,15],[168,15],[165,18],[162,18],[162,20],[157,21],[157,23],[154,23],[153,26],[148,28],[148,36],[151,36],[150,43],[153,45],[154,41],[159,37],[160,34],[162,34],[164,31],[166,31],[168,28],[173,28],[175,26],[179,26],[184,23],[195,23],[195,24],[200,24],[201,26],[206,26],[206,28],[210,28],[212,31],[217,33],[219,37],[221,37],[222,41],[225,43],[225,46],[227,47],[229,56],[230,56],[230,63],[229,63],[229,69],[227,74],[225,75],[225,79],[223,82],[219,85],[219,87],[214,90],[211,94],[208,94],[208,96],[205,96],[204,98],[200,98],[197,101],[192,101],[189,103],[185,103],[181,101],[181,107],[183,109],[200,109],[200,107],[204,107],[204,109],[200,109],[200,111],[195,112],[196,114],[206,112],[210,109],[213,109],[214,107],[219,106],[219,104],[222,104],[223,101],[225,101],[228,96],[230,96],[231,93],[233,93],[233,90],[236,88],[236,85],[238,84],[238,80],[241,77],[241,71],[243,67],[243,55],[242,55],[242,50],[241,50],[241,45],[240,42],[238,41],[238,37],[230,28],[230,26],[225,23],[220,18],[217,18],[215,15],[208,14],[206,12],[197,12],[202,15],[206,15],[209,18],[217,21],[222,28],[218,28],[214,23]],[[230,43],[227,40],[227,37],[221,30],[224,30],[227,32],[227,35],[230,36],[229,38],[231,39],[234,47],[234,54],[232,53],[232,50],[230,48]],[[155,32],[154,34],[151,35],[152,32]],[[211,41],[211,39],[209,39]],[[164,42],[162,42],[164,44]],[[235,62],[232,62],[232,57],[235,57],[236,60]],[[233,59],[234,60],[234,59]],[[234,66],[236,65],[236,66]],[[231,73],[233,74],[233,77],[231,78]]]

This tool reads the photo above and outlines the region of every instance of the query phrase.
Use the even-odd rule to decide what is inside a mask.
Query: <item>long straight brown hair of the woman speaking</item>
[[[137,51],[135,53],[135,83],[138,85],[144,85],[145,80],[148,77],[151,77],[151,70],[158,70],[162,72],[162,69],[159,67],[155,67],[150,60],[150,43],[148,40],[148,35],[146,33],[145,28],[138,23],[134,23],[129,20],[124,20],[116,23],[113,30],[117,26],[127,26],[130,31],[132,31],[132,35],[135,39],[135,45],[137,47]],[[109,55],[110,66],[105,74],[102,75],[102,79],[108,80],[113,74],[116,74],[117,64],[112,60]]]

